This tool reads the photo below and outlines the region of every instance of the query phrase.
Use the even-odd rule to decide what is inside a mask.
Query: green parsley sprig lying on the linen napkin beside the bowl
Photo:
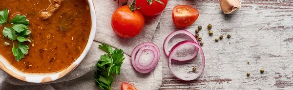
[[[99,45],[99,48],[107,54],[102,55],[101,59],[96,64],[95,80],[96,85],[103,90],[112,90],[114,75],[120,75],[120,68],[123,63],[124,54],[121,49],[112,50],[110,45]]]

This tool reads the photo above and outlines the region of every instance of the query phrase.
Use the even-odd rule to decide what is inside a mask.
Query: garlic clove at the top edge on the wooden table
[[[241,7],[240,0],[220,0],[220,6],[224,14],[232,14]]]

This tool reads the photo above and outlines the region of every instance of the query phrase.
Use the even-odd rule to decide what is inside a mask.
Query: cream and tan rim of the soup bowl
[[[90,31],[89,38],[83,53],[70,66],[58,72],[52,72],[52,73],[25,73],[16,69],[13,65],[11,65],[8,62],[8,60],[6,60],[2,55],[0,55],[0,69],[17,79],[20,79],[25,82],[31,82],[31,83],[45,83],[45,82],[55,81],[67,75],[71,71],[73,71],[84,60],[84,57],[88,53],[96,34],[97,22],[96,22],[96,12],[94,7],[94,1],[93,0],[86,0],[86,1],[88,3],[89,10],[90,10],[91,31]]]

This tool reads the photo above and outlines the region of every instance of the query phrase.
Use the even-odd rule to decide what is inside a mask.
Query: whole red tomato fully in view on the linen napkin
[[[130,11],[130,8],[125,5],[114,11],[111,24],[117,35],[123,38],[132,38],[143,30],[145,17],[139,10]]]

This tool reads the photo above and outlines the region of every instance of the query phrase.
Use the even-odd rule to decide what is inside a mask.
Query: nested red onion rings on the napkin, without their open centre
[[[139,50],[142,50],[142,51],[151,50],[154,53],[153,61],[146,66],[140,64],[139,61],[137,61],[137,60],[140,60],[143,52],[139,53]],[[148,54],[148,55],[151,55],[151,54]],[[158,64],[158,62],[160,60],[160,57],[161,57],[161,53],[160,53],[159,47],[153,43],[146,42],[146,43],[142,43],[142,44],[137,45],[133,49],[133,51],[131,53],[131,64],[137,72],[142,73],[142,74],[146,74],[146,73],[151,72],[156,67],[156,65]]]

